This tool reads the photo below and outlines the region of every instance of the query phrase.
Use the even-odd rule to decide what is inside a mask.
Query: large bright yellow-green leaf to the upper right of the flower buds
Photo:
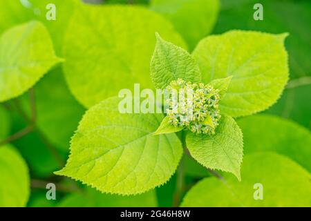
[[[194,57],[202,80],[233,75],[220,109],[232,117],[264,111],[281,96],[288,81],[288,34],[233,30],[200,41]]]

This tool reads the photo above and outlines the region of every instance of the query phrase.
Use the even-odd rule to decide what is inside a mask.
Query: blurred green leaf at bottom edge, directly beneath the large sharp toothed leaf
[[[95,189],[86,189],[84,193],[67,195],[59,202],[59,207],[156,207],[156,191],[140,195],[121,196],[104,194]]]

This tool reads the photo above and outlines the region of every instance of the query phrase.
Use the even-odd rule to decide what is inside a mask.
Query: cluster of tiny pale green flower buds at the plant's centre
[[[193,133],[214,135],[221,117],[218,89],[178,79],[167,86],[167,93],[169,123],[187,127]]]

